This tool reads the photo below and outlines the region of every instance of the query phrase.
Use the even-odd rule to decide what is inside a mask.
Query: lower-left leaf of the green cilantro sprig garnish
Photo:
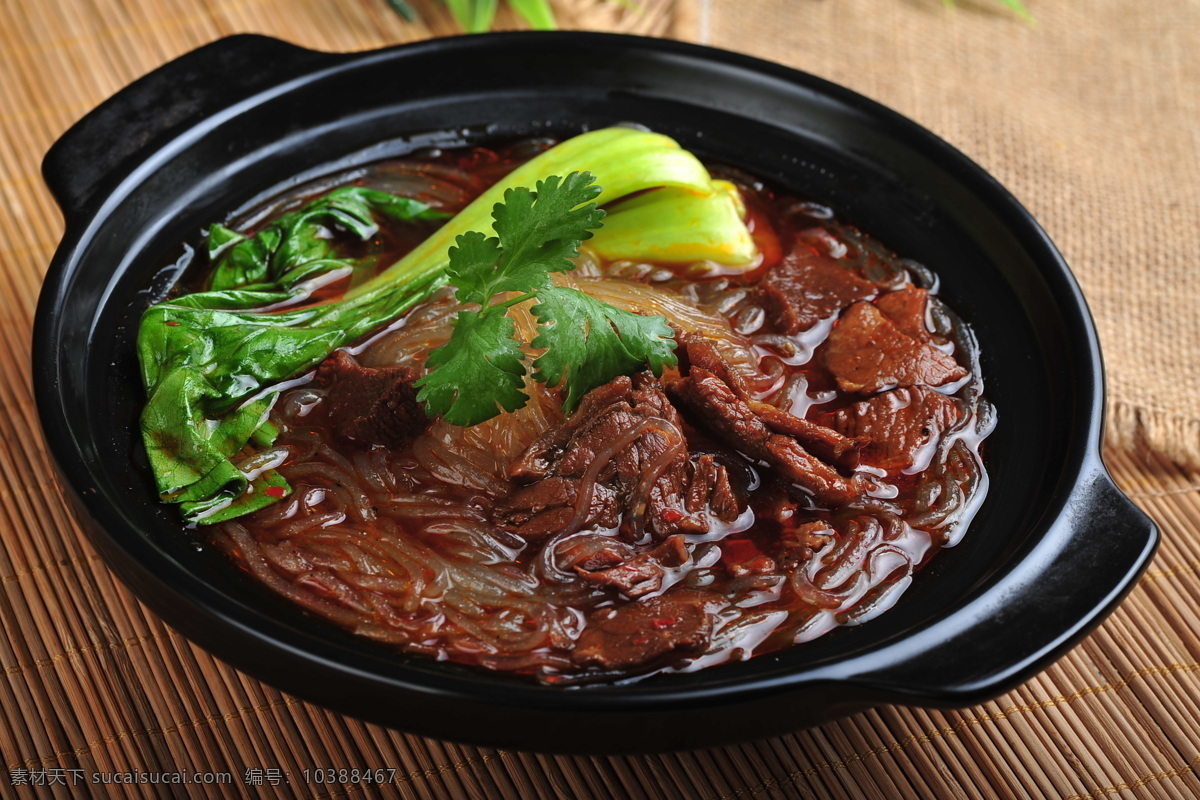
[[[414,384],[426,414],[469,426],[523,408],[529,397],[515,327],[503,312],[460,311],[450,341],[430,354],[428,372]]]

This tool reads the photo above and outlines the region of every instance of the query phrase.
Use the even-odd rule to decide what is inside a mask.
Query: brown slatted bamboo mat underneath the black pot
[[[877,0],[892,2],[922,5]],[[703,35],[713,14],[690,0],[568,5],[572,26],[656,35]],[[1200,798],[1200,474],[1145,452],[1108,459],[1162,525],[1162,549],[1110,620],[1042,675],[962,711],[882,708],[689,753],[546,757],[364,724],[214,660],[115,582],[64,510],[37,433],[30,326],[61,233],[42,154],[131,79],[218,36],[349,50],[449,30],[421,7],[427,25],[406,26],[382,0],[0,4],[0,796]],[[395,772],[383,788],[305,784],[316,768]],[[77,782],[182,770],[232,782]]]

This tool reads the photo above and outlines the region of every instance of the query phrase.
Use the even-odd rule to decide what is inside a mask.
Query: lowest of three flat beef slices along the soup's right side
[[[934,447],[943,432],[959,421],[958,403],[924,386],[894,389],[830,415],[844,433],[870,444],[863,459],[887,470],[905,470],[928,463],[923,451]]]

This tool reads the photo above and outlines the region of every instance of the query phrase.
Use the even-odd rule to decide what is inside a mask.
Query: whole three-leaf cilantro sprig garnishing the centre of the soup
[[[601,225],[604,211],[589,203],[600,194],[593,181],[590,174],[571,173],[539,181],[534,192],[509,190],[492,211],[497,236],[458,236],[450,248],[450,281],[460,302],[481,309],[460,312],[450,342],[431,354],[430,371],[416,381],[416,398],[427,413],[469,426],[526,404],[523,351],[505,314],[530,297],[538,299],[533,314],[539,321],[530,344],[545,350],[534,361],[534,379],[565,386],[565,411],[617,375],[646,366],[661,374],[664,366],[676,363],[666,319],[631,314],[551,283],[553,272],[572,267],[569,259]],[[506,291],[521,294],[488,305]]]

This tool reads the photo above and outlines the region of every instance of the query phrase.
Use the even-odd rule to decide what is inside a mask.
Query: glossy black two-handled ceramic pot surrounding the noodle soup
[[[932,267],[974,327],[1000,427],[965,540],[895,608],[744,663],[564,690],[389,651],[241,576],[156,501],[133,350],[162,269],[214,219],[418,146],[636,121],[838,210]],[[34,343],[66,493],[169,625],[281,690],[404,730],[558,752],[779,734],[882,703],[961,706],[1026,680],[1124,595],[1157,543],[1099,457],[1103,372],[1079,287],[995,180],[913,122],[780,66],[593,34],[445,38],[329,55],[257,36],[168,64],[50,150],[66,235]]]

